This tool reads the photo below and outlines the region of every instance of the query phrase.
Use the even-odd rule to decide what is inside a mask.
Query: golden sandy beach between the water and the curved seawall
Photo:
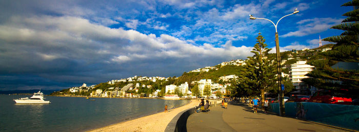
[[[190,103],[169,109],[168,113],[157,113],[126,122],[121,122],[90,131],[165,131],[168,123],[180,112],[198,105],[200,100],[191,100]]]

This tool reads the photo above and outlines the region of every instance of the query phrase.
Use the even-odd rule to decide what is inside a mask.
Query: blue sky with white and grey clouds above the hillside
[[[349,1],[0,1],[0,91],[61,90],[133,76],[181,76],[246,59],[261,33],[281,51],[343,31]],[[322,41],[323,45],[328,44]],[[275,53],[275,49],[271,51]]]

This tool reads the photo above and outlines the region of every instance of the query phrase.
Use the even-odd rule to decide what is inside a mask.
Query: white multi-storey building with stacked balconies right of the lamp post
[[[311,94],[308,85],[302,82],[302,79],[308,78],[308,76],[305,75],[310,71],[313,71],[314,67],[306,64],[306,62],[307,61],[297,61],[294,64],[291,64],[290,78],[295,87],[293,93],[305,95]]]

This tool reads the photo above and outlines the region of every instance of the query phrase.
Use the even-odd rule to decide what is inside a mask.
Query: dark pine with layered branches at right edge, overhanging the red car
[[[359,6],[359,1],[354,0],[342,6]],[[302,81],[319,89],[357,89],[359,87],[359,70],[344,70],[332,68],[337,62],[359,62],[359,9],[343,14],[348,16],[341,25],[333,26],[331,29],[344,30],[339,36],[327,37],[323,40],[335,42],[332,50],[322,52],[324,59],[307,62],[315,67]]]

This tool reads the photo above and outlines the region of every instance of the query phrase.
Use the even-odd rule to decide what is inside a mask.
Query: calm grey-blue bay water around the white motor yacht
[[[183,106],[188,100],[45,96],[50,104],[15,104],[31,97],[0,95],[0,131],[86,131]]]

